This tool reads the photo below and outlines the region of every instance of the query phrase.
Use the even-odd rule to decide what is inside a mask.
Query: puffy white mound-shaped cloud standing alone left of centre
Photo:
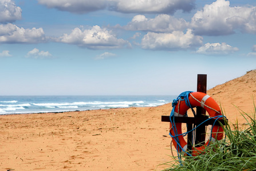
[[[131,46],[127,40],[117,39],[112,31],[107,28],[100,28],[100,26],[93,26],[88,30],[80,30],[74,28],[70,34],[64,34],[56,39],[56,42],[76,44],[80,47],[91,49],[105,49],[105,48],[122,48],[124,46]]]

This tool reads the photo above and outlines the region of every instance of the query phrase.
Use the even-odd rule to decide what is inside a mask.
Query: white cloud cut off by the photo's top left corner
[[[0,0],[0,23],[21,19],[22,10],[11,0]]]

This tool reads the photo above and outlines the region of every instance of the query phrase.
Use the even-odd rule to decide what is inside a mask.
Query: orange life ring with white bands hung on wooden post
[[[210,117],[222,116],[219,105],[216,103],[214,99],[212,99],[212,97],[206,95],[206,93],[192,92],[188,95],[188,100],[190,101],[192,108],[202,107],[206,109]],[[190,107],[186,105],[186,102],[184,100],[179,100],[174,109],[174,116],[184,117],[188,109],[190,109]],[[176,135],[179,135],[178,136],[179,144],[183,149],[183,150],[179,149],[179,152],[186,152],[187,142],[184,140],[182,135],[182,123],[175,123],[175,126],[177,131]],[[174,127],[172,127],[172,123],[170,123],[170,133],[172,136],[175,136]],[[218,125],[214,125],[214,127],[212,127],[211,141],[214,142],[215,140],[221,140],[222,138],[223,138],[223,128]],[[179,146],[177,146],[177,142],[174,137],[172,137],[172,143],[174,143],[174,146],[176,149],[180,148]],[[210,139],[203,146],[192,147],[192,156],[196,156],[201,152],[203,152],[203,150],[206,148],[206,146],[209,143],[210,143]]]

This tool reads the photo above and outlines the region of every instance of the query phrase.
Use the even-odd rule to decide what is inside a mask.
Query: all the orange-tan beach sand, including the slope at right
[[[253,113],[256,70],[207,91],[230,122]],[[235,107],[235,105],[237,107]],[[0,170],[162,170],[172,160],[171,104],[0,116]]]

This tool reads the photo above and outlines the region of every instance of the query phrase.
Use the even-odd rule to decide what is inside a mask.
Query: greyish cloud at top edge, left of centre
[[[84,14],[107,7],[105,0],[38,0],[42,5],[70,13]]]

